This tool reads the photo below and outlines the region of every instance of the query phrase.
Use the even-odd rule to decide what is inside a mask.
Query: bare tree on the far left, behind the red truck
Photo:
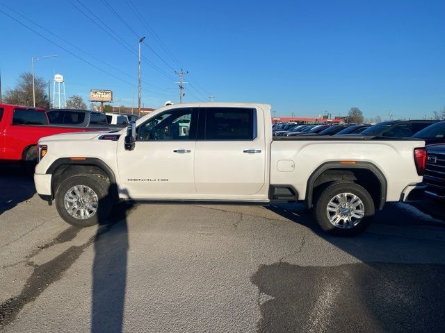
[[[35,106],[47,108],[47,83],[43,78],[34,76]],[[14,89],[6,89],[4,100],[8,104],[33,106],[33,74],[22,73]]]

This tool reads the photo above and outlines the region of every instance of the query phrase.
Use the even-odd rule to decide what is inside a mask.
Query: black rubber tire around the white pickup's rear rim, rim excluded
[[[343,193],[354,194],[362,200],[364,206],[364,217],[350,228],[345,228],[344,225],[343,227],[341,225],[334,225],[330,222],[327,213],[327,205],[330,203],[330,200],[334,198],[334,196],[337,196],[337,194]],[[319,192],[314,205],[314,216],[318,225],[320,225],[321,229],[325,232],[337,236],[353,236],[363,232],[369,223],[371,223],[374,212],[373,198],[366,189],[355,184],[355,182],[333,182],[330,185],[326,185],[324,189]]]

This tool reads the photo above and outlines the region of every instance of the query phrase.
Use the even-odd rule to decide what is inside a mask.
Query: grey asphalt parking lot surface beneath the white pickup
[[[323,234],[302,205],[120,205],[111,225],[77,229],[2,170],[0,327],[443,332],[444,215],[430,205],[388,204],[353,238]]]

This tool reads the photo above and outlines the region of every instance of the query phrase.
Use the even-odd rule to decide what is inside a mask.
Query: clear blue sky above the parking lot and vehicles
[[[36,62],[35,74],[46,79],[63,74],[68,96],[87,100],[90,89],[112,89],[115,105],[137,105],[136,55],[70,2],[94,12],[133,51],[136,35],[147,36],[143,57],[161,72],[143,61],[145,107],[177,102],[173,69],[181,68],[190,73],[185,101],[208,101],[213,94],[216,101],[270,103],[280,116],[312,117],[325,110],[341,115],[357,106],[365,117],[385,119],[391,110],[395,117],[423,118],[445,106],[445,1],[424,0],[0,0],[0,10],[114,76],[0,12],[3,90],[31,70],[32,56],[58,54]],[[131,3],[174,57],[140,22]]]

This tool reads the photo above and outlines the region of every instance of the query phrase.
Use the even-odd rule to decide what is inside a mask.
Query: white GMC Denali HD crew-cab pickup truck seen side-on
[[[304,201],[327,232],[357,234],[387,201],[418,200],[424,142],[274,137],[270,105],[168,105],[127,131],[39,141],[35,188],[73,225],[122,200],[268,205]]]

